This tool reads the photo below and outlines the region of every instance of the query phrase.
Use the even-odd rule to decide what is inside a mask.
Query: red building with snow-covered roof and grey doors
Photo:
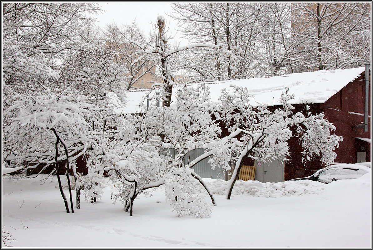
[[[335,149],[335,162],[356,163],[370,161],[370,75],[368,77],[368,123],[364,132],[364,103],[365,103],[365,67],[355,69],[319,70],[314,72],[294,73],[283,76],[272,76],[242,80],[206,83],[210,87],[212,101],[218,101],[223,88],[230,89],[230,85],[246,87],[254,96],[253,101],[266,103],[276,107],[280,105],[278,99],[285,86],[295,98],[289,101],[296,108],[295,112],[310,106],[314,114],[324,113],[325,118],[336,127],[336,135],[344,140]],[[192,86],[192,85],[191,85]],[[176,92],[178,86],[173,88]],[[142,95],[148,92],[129,91],[126,108],[119,109],[119,113],[140,112],[139,103],[143,102],[141,111],[144,112],[147,102],[142,101]],[[172,95],[175,103],[175,96]],[[223,128],[224,129],[224,128]],[[289,140],[289,159],[283,161],[261,162],[251,158],[244,159],[244,165],[255,165],[255,179],[262,182],[278,182],[293,178],[306,177],[323,166],[319,159],[302,162],[303,151],[298,138]],[[197,152],[193,159],[197,157]],[[191,159],[191,160],[193,160]],[[207,162],[207,160],[206,160]],[[196,165],[194,170],[201,177],[225,178],[227,175],[212,171],[207,163]]]

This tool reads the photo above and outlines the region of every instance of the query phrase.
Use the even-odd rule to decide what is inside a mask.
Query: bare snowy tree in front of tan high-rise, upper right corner
[[[370,61],[369,3],[294,3],[293,58],[304,70],[358,67]]]

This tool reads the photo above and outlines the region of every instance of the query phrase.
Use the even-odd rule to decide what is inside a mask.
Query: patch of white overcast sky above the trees
[[[176,21],[168,17],[167,14],[172,12],[172,2],[167,1],[112,1],[99,2],[104,13],[98,14],[98,25],[104,28],[107,23],[113,21],[117,25],[130,24],[136,18],[136,22],[144,31],[144,34],[153,29],[157,16],[162,15],[166,18],[166,27],[169,27],[169,34],[175,35],[176,42],[185,45],[187,41],[181,39],[175,31]],[[153,25],[152,25],[153,23]],[[173,41],[175,42],[175,41]]]

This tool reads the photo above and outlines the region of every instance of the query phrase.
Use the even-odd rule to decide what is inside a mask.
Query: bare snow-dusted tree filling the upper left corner
[[[20,92],[35,85],[25,82],[56,78],[54,67],[94,21],[87,14],[99,10],[95,3],[3,3],[3,82]]]

